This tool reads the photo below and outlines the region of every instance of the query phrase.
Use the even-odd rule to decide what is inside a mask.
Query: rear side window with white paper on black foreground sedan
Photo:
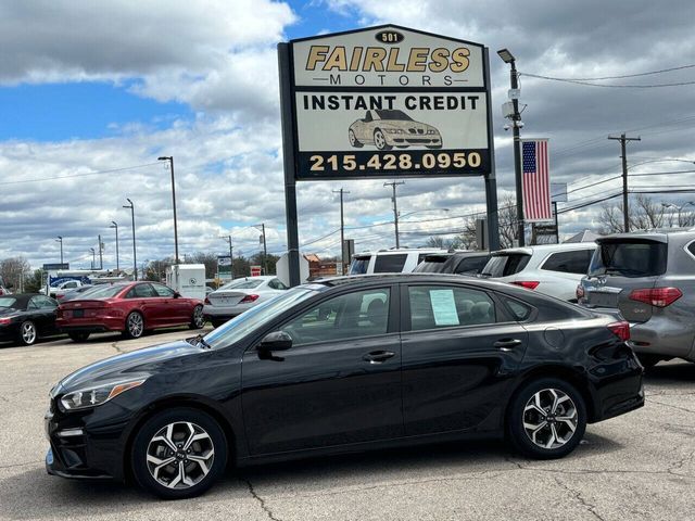
[[[410,330],[495,322],[494,302],[483,291],[446,285],[408,288]]]

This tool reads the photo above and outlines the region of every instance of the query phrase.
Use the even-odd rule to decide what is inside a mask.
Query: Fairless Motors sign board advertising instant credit
[[[293,40],[295,179],[491,171],[486,49],[394,25]]]

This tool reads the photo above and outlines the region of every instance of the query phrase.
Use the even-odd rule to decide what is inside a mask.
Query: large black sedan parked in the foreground
[[[586,423],[644,404],[629,335],[627,322],[494,281],[330,279],[63,379],[46,465],[182,498],[229,462],[503,436],[558,458]]]

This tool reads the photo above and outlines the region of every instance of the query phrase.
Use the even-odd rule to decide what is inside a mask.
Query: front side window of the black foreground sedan
[[[281,329],[295,345],[384,334],[389,328],[390,290],[364,290],[317,304]]]

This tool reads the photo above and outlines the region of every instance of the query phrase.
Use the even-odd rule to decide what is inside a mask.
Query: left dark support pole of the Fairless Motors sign
[[[280,112],[282,119],[282,164],[285,169],[285,219],[287,221],[288,268],[290,287],[300,280],[300,240],[296,218],[296,161],[294,157],[294,132],[292,131],[292,88],[289,43],[278,43],[280,71]]]

